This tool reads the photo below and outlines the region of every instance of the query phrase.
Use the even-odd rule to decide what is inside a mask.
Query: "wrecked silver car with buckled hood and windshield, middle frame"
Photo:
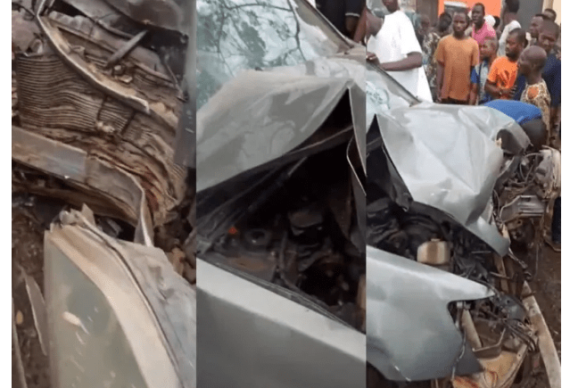
[[[198,384],[364,385],[364,49],[304,0],[197,12]]]

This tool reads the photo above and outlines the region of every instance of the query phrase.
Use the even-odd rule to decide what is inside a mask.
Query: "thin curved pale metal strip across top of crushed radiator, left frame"
[[[45,34],[49,43],[54,47],[55,53],[62,58],[63,62],[78,71],[82,78],[85,78],[87,83],[91,86],[103,91],[103,93],[111,95],[122,103],[128,104],[128,106],[136,109],[137,111],[145,112],[153,119],[159,120],[161,124],[176,130],[177,123],[170,123],[169,120],[161,115],[160,112],[155,111],[148,101],[133,95],[132,89],[123,87],[119,82],[112,79],[104,79],[103,81],[98,78],[94,72],[87,70],[89,68],[88,63],[80,58],[78,54],[74,53],[69,43],[62,36],[62,33],[58,29],[48,25],[49,21],[47,21],[45,16],[39,16],[44,11],[46,1],[47,0],[42,0],[41,4],[38,6],[37,24]]]

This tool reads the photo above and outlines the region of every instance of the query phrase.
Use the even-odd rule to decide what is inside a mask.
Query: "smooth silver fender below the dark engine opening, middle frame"
[[[197,337],[199,386],[365,386],[365,334],[206,261],[197,269],[199,317],[216,323]]]

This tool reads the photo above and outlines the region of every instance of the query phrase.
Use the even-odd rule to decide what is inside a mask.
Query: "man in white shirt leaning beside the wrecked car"
[[[432,94],[422,66],[422,49],[414,26],[400,10],[398,0],[383,0],[383,3],[391,13],[384,17],[382,28],[368,40],[367,59],[376,62],[412,95],[431,102]]]

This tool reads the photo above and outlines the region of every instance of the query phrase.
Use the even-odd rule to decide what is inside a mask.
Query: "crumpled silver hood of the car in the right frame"
[[[485,107],[421,103],[376,115],[386,152],[413,200],[445,211],[504,255],[508,240],[482,218],[514,120]],[[520,133],[520,132],[519,132]]]

